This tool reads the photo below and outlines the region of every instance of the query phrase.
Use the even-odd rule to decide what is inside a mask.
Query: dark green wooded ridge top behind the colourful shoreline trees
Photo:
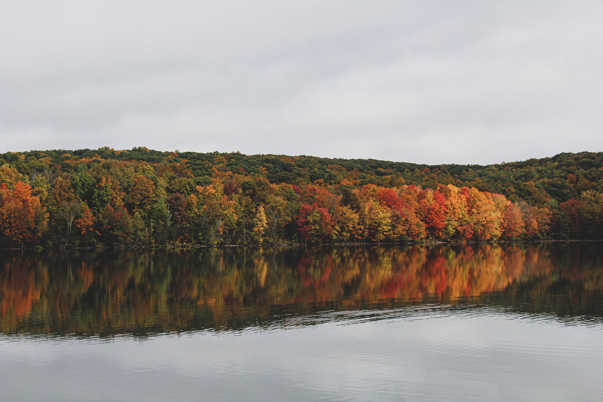
[[[0,154],[0,165],[18,165],[23,173],[29,174],[33,169],[41,168],[39,163],[33,162],[34,159],[37,161],[49,157],[52,163],[61,165],[63,171],[69,172],[74,167],[71,162],[73,157],[161,163],[173,153],[144,147],[122,152],[108,147],[75,151],[53,149],[21,152],[19,154],[25,155],[25,164],[19,164],[19,154],[7,152]],[[306,155],[245,155],[239,152],[176,153],[177,159],[187,161],[188,168],[195,177],[211,175],[214,166],[225,167],[233,172],[244,169],[248,173],[259,173],[260,167],[263,167],[267,169],[266,177],[271,183],[311,183],[323,179],[328,184],[335,184],[341,181],[344,172],[356,170],[359,172],[361,184],[387,185],[393,177],[400,177],[406,184],[432,188],[437,187],[437,184],[473,186],[481,191],[502,193],[511,199],[525,199],[537,204],[546,202],[546,198],[554,198],[561,203],[589,189],[603,191],[603,152],[564,152],[554,157],[485,166],[421,165],[376,159],[329,159]],[[534,183],[534,186],[531,183]]]

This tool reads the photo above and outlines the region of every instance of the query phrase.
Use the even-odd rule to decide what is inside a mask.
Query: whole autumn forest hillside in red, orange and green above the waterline
[[[500,165],[0,154],[1,247],[601,239],[603,152]]]

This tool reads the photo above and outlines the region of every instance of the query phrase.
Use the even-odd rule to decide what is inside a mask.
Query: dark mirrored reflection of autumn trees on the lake
[[[4,333],[241,328],[428,300],[602,316],[599,243],[5,252]]]

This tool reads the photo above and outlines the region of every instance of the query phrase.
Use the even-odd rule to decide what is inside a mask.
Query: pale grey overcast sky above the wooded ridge
[[[0,151],[603,151],[601,1],[3,1]]]

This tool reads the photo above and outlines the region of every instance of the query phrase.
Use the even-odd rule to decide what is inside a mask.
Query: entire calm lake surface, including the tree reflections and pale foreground
[[[603,244],[0,251],[2,401],[598,401]]]

